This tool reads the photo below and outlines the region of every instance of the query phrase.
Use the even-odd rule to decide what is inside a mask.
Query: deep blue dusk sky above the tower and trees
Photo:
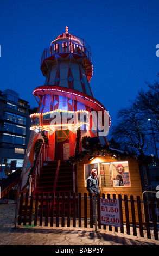
[[[0,90],[12,89],[37,107],[33,90],[44,84],[44,48],[58,35],[83,38],[93,61],[95,99],[111,115],[130,105],[138,90],[148,90],[159,72],[159,1],[15,0],[0,3]]]

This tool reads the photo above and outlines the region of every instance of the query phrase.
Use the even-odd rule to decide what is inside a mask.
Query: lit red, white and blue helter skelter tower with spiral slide
[[[66,27],[66,32],[43,51],[41,71],[46,82],[33,92],[39,108],[37,113],[30,116],[32,134],[22,168],[21,189],[26,187],[29,169],[34,161],[34,143],[41,136],[38,133],[40,130],[44,130],[49,138],[48,161],[65,161],[75,154],[78,129],[81,139],[90,136],[107,145],[110,116],[92,93],[90,46],[83,39],[69,34]],[[84,150],[81,140],[80,150]]]

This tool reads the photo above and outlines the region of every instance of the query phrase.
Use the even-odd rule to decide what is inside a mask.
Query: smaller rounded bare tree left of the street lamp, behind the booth
[[[150,143],[142,112],[133,106],[118,112],[117,125],[112,127],[111,134],[124,150],[135,151],[140,155],[144,155]]]

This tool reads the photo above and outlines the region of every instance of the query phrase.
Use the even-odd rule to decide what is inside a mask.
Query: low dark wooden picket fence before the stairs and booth
[[[110,194],[102,194],[102,198],[110,199]],[[116,199],[116,195],[112,195],[113,199]],[[147,202],[147,197],[143,195],[143,200],[139,196],[136,200],[133,196],[128,199],[125,195],[124,198],[118,195],[120,205],[120,227],[113,227],[116,232],[137,236],[137,229],[139,229],[139,235],[144,237],[144,233],[148,239],[151,239],[151,230],[153,230],[155,240],[158,240],[158,229],[156,222],[155,203],[154,198],[150,197],[150,205]],[[84,197],[81,193],[36,193],[34,196],[31,193],[29,197],[27,193],[21,193],[17,199],[17,208],[15,214],[15,227],[20,225],[32,225],[32,226],[56,226],[59,227],[84,227],[93,228],[93,197],[87,197],[87,193]],[[112,230],[110,225],[101,225],[100,218],[100,195],[96,199],[97,202],[97,217],[98,217],[98,229]],[[157,207],[159,203],[157,202]],[[137,211],[135,210],[137,209]],[[150,212],[151,220],[150,222]],[[143,217],[144,216],[144,217]],[[125,227],[125,228],[124,228]],[[131,227],[131,229],[130,229]],[[130,234],[132,230],[132,234]],[[145,230],[145,232],[144,232]]]

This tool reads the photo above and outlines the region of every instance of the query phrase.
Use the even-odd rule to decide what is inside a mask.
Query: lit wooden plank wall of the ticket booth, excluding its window
[[[139,196],[142,200],[142,186],[141,186],[141,179],[139,175],[139,168],[138,168],[138,162],[136,159],[125,159],[125,160],[116,160],[112,159],[110,156],[98,156],[93,160],[85,159],[84,161],[77,164],[77,193],[81,193],[82,197],[84,196],[84,193],[87,193],[85,187],[85,172],[84,172],[84,164],[93,164],[93,163],[102,163],[102,162],[120,162],[120,161],[128,161],[129,163],[129,174],[130,174],[130,180],[131,180],[131,186],[130,187],[100,187],[100,197],[102,197],[102,194],[105,194],[105,197],[107,197],[107,194],[110,194],[111,198],[112,195],[115,194],[118,198],[118,194],[121,194],[122,199],[124,199],[124,195],[130,199],[130,196],[132,195],[134,200],[137,200],[137,196]],[[124,201],[122,202],[124,205]],[[130,222],[131,222],[131,203],[128,202],[129,207],[129,213],[130,213]],[[87,206],[88,214],[89,214],[89,205]],[[124,207],[123,207],[124,209]],[[142,209],[143,212],[143,209]],[[124,214],[124,212],[123,212]],[[137,203],[135,203],[135,214],[136,214],[136,221],[138,222],[138,208]],[[143,218],[143,216],[142,216]],[[124,221],[125,221],[125,214],[124,214]]]

